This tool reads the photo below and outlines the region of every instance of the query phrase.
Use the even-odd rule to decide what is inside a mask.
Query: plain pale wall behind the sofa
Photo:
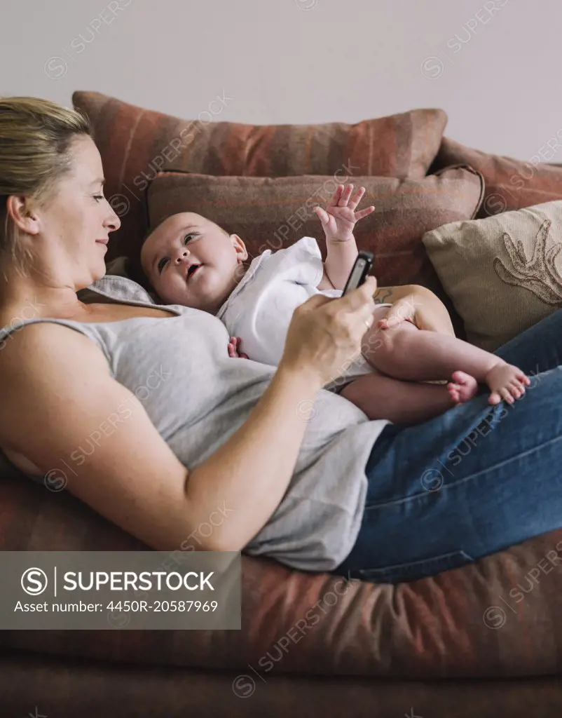
[[[439,107],[464,144],[562,162],[561,21],[560,0],[1,0],[0,93],[258,124]]]

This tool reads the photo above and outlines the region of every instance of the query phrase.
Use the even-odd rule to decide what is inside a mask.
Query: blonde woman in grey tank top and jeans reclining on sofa
[[[561,526],[561,312],[497,352],[539,372],[515,405],[483,393],[416,426],[367,421],[322,386],[378,331],[374,278],[299,307],[277,368],[229,358],[216,317],[101,279],[120,223],[83,117],[6,98],[0,137],[0,448],[25,473],[64,474],[157,550],[390,582]],[[93,282],[106,301],[83,304]],[[378,293],[398,321],[451,333],[426,289]]]

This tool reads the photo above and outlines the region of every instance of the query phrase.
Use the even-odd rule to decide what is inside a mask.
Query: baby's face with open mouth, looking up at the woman
[[[141,249],[142,268],[164,303],[213,314],[242,279],[246,258],[238,235],[193,212],[164,220]]]

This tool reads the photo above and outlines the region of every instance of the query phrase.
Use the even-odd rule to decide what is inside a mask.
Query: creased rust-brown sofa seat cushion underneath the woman
[[[0,550],[139,551],[62,491],[0,477]],[[562,530],[409,584],[347,582],[243,556],[241,630],[4,630],[0,647],[151,666],[406,679],[560,673]],[[409,705],[409,704],[407,704]]]

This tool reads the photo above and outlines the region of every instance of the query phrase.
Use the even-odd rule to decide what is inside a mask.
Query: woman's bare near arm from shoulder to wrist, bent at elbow
[[[243,426],[190,470],[93,342],[60,325],[31,325],[0,352],[0,446],[45,474],[62,470],[70,493],[156,550],[189,540],[236,551],[281,502],[306,429],[299,406],[322,387],[319,373],[294,366],[278,368]],[[95,450],[86,456],[88,439]],[[224,520],[204,538],[197,529],[217,512]]]

